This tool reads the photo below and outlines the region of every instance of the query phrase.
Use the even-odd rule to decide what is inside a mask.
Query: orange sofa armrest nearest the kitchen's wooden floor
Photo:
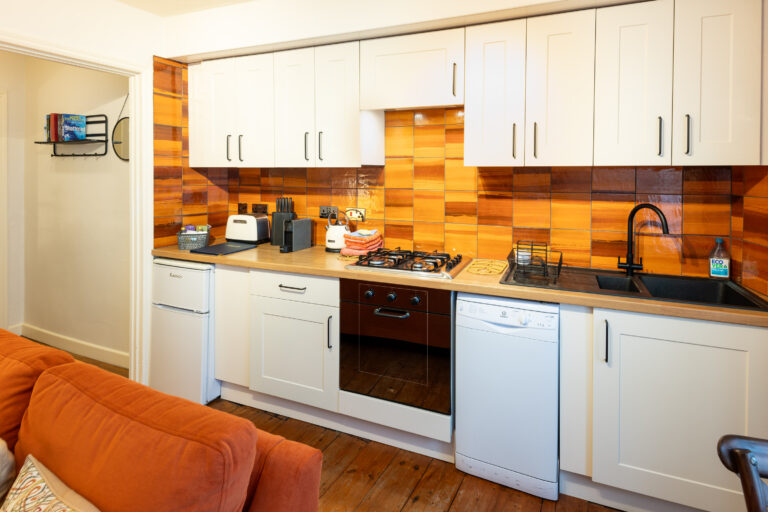
[[[302,443],[258,432],[249,512],[316,512],[323,454]],[[250,494],[250,493],[249,493]]]

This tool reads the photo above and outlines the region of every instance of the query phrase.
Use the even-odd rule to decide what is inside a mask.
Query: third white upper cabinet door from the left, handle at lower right
[[[315,49],[275,53],[275,166],[315,166]]]

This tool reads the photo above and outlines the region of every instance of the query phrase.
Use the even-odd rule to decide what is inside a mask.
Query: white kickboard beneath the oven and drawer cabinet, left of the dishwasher
[[[257,393],[248,388],[227,382],[221,383],[221,398],[320,425],[321,427],[339,430],[372,441],[378,441],[390,446],[396,446],[397,448],[434,457],[435,459],[453,462],[453,443],[444,443],[411,434],[410,432],[352,418],[351,416]]]

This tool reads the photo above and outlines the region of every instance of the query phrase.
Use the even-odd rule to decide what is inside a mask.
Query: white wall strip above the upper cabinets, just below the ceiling
[[[254,0],[166,18],[163,55],[196,61],[632,1]]]

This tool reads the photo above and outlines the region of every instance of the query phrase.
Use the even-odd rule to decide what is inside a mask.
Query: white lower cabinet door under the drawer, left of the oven
[[[339,309],[252,296],[251,389],[338,410]]]

